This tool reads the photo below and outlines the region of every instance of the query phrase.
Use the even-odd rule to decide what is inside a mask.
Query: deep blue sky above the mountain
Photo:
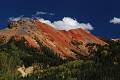
[[[113,17],[120,17],[120,0],[0,0],[0,27],[7,24],[9,17],[30,17],[36,11],[54,13],[41,15],[51,21],[63,17],[76,18],[90,23],[97,36],[120,38],[120,24],[111,24]]]

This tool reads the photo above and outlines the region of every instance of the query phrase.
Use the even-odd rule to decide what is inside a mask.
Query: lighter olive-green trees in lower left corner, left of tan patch
[[[16,67],[21,64],[21,60],[16,55],[0,53],[0,80],[17,80],[18,73]]]

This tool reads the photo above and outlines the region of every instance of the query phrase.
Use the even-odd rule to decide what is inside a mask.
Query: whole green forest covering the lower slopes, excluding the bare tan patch
[[[39,42],[38,50],[23,38],[0,45],[0,80],[119,80],[120,42],[95,46],[90,56],[82,60],[62,60],[59,55]],[[76,52],[78,54],[78,52]],[[17,66],[36,66],[32,75],[20,78]]]

